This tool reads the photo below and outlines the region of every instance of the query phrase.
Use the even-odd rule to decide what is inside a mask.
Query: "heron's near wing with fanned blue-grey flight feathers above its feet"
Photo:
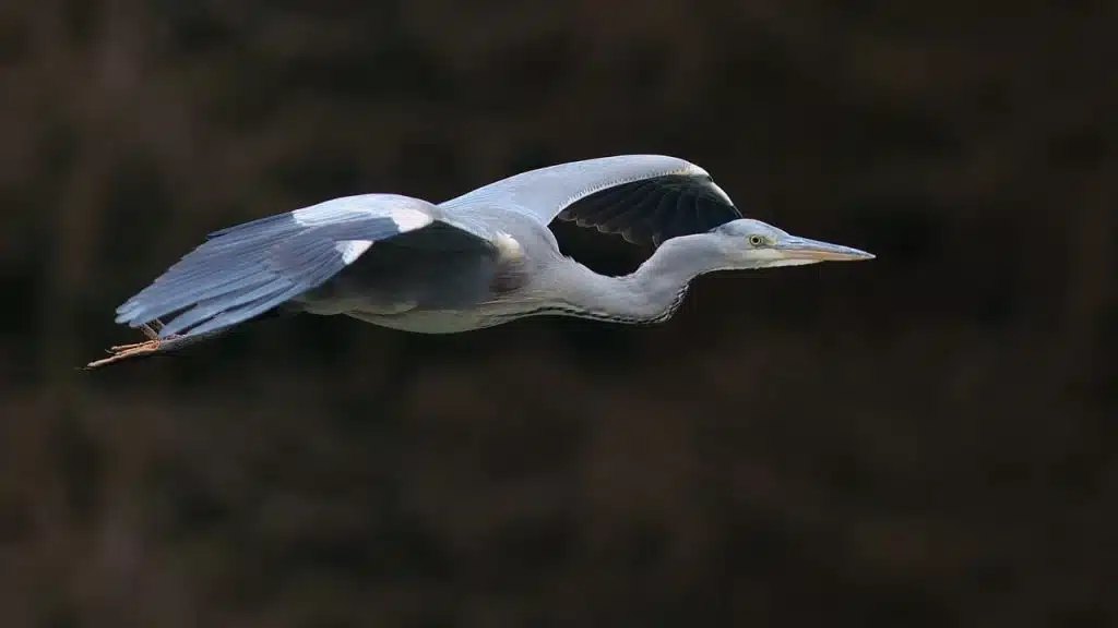
[[[321,286],[376,242],[433,225],[451,240],[447,246],[494,248],[439,216],[418,199],[362,194],[221,229],[117,307],[116,322],[139,327],[178,313],[161,337],[215,332]]]

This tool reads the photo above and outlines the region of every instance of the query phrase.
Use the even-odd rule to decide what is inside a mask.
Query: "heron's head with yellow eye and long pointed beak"
[[[819,261],[858,261],[874,255],[856,248],[793,236],[771,225],[742,218],[712,229],[721,236],[727,257],[742,268],[800,266]]]

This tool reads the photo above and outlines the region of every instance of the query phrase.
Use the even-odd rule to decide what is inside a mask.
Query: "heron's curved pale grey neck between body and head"
[[[707,234],[665,241],[634,273],[599,275],[577,265],[574,286],[566,292],[567,314],[618,323],[648,324],[670,318],[683,302],[691,279],[724,267],[724,255]]]

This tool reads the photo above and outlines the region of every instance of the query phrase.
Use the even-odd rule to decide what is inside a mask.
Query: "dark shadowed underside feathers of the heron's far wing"
[[[558,218],[659,246],[737,220],[741,212],[710,177],[667,174],[599,190],[567,206]]]

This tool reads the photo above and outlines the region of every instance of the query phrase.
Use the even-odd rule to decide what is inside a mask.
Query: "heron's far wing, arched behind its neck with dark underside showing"
[[[618,155],[531,170],[439,207],[447,212],[500,208],[544,225],[558,217],[654,246],[741,218],[705,170],[664,155]]]

